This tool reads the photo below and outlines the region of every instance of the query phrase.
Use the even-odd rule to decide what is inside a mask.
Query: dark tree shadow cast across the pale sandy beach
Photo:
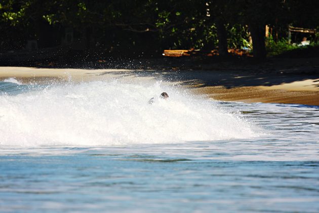
[[[256,73],[242,70],[127,70],[125,72],[106,71],[88,73],[88,75],[116,75],[122,77],[153,78],[158,81],[176,82],[180,85],[194,87],[223,86],[227,89],[246,86],[273,86],[304,80],[316,80],[314,86],[319,87],[318,73]]]

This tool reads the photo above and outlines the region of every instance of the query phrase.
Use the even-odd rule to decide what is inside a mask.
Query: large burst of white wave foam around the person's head
[[[164,91],[168,100],[158,97]],[[148,104],[151,97],[155,101]],[[216,102],[161,82],[84,82],[0,96],[0,145],[5,146],[227,140],[256,137],[254,129]]]

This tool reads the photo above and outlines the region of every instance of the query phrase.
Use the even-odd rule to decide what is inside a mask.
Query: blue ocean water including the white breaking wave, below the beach
[[[319,107],[9,78],[0,211],[319,212]]]

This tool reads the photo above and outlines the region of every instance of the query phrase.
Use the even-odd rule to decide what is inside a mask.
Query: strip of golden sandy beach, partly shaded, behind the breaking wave
[[[23,83],[111,78],[134,80],[136,77],[179,84],[195,94],[205,94],[215,100],[319,105],[319,75],[316,73],[0,67],[1,81],[15,78]]]

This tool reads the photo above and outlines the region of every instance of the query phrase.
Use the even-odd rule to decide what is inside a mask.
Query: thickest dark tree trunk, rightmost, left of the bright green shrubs
[[[257,59],[266,58],[264,29],[264,26],[250,25],[250,32],[253,39],[253,54]]]

